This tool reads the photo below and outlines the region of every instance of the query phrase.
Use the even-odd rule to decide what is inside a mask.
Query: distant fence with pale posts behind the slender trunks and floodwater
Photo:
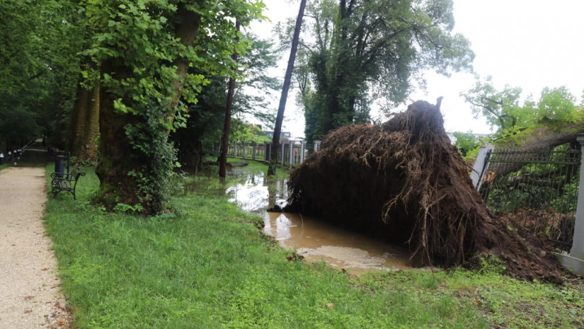
[[[308,142],[282,142],[277,151],[276,163],[280,166],[293,167],[304,162],[314,152],[319,150],[321,141]],[[230,142],[227,146],[227,156],[233,158],[251,159],[268,163],[270,161],[271,142]],[[221,144],[207,145],[205,151],[208,154],[219,155]]]

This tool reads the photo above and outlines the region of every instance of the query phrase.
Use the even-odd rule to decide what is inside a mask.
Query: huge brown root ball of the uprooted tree
[[[425,101],[381,127],[331,132],[288,184],[287,211],[406,244],[420,265],[462,265],[487,251],[514,277],[558,281],[562,274],[543,241],[524,240],[493,219],[450,144],[440,109]]]

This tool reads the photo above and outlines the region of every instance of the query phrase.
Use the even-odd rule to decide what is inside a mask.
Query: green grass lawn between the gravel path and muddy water
[[[288,261],[224,196],[188,192],[161,217],[107,214],[85,170],[78,200],[61,193],[45,214],[75,328],[584,328],[581,282],[520,282],[496,262],[350,277]]]

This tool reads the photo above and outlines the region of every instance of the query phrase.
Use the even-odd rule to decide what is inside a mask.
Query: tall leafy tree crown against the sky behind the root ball
[[[296,71],[309,140],[370,122],[374,98],[403,102],[425,69],[447,75],[474,58],[468,40],[452,33],[452,1],[319,0],[307,11],[315,42],[299,52]]]

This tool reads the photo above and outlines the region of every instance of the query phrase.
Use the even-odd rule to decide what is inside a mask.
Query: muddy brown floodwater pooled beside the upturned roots
[[[263,217],[265,233],[284,248],[294,249],[307,262],[325,261],[351,274],[380,270],[411,270],[406,248],[391,246],[359,233],[340,229],[302,214],[266,212],[287,199],[286,180],[268,180],[263,173],[238,169],[229,173],[231,183],[214,190],[244,211]],[[219,178],[217,178],[219,179]],[[195,187],[200,190],[202,186]]]

